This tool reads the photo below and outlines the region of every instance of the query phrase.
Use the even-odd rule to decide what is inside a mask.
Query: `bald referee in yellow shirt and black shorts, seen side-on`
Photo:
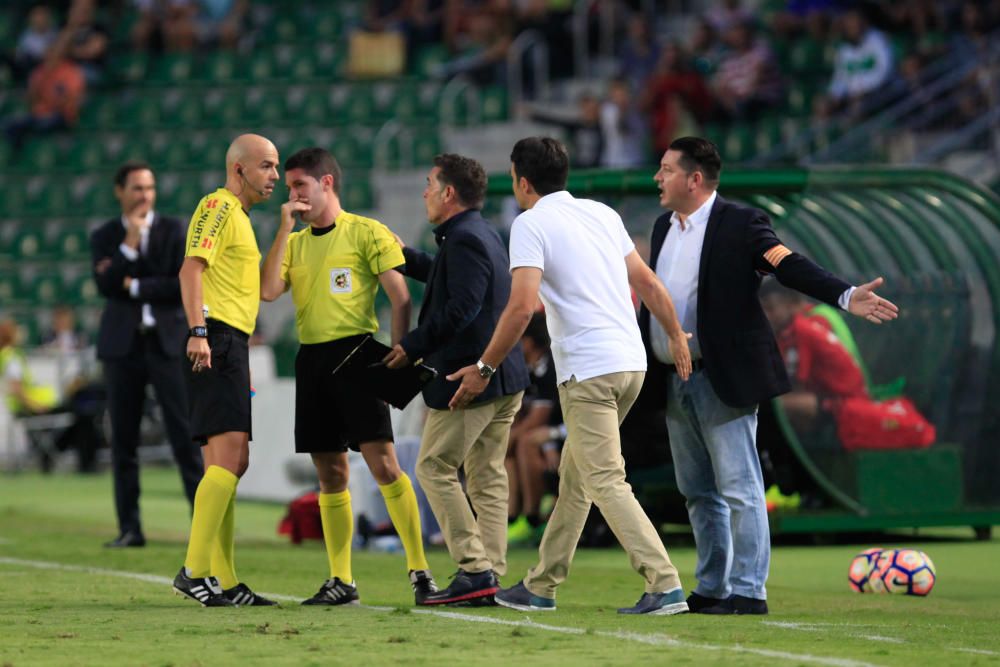
[[[225,187],[205,195],[191,218],[180,271],[191,327],[191,435],[202,445],[205,475],[174,590],[206,607],[274,604],[236,577],[233,503],[250,459],[248,341],[260,306],[260,250],[247,212],[270,198],[277,180],[274,144],[255,134],[237,137],[226,152]]]

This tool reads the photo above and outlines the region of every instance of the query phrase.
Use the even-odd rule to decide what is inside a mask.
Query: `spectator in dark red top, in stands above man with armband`
[[[653,148],[662,155],[671,141],[708,119],[712,96],[687,54],[678,44],[670,44],[646,82],[641,105],[650,116]]]

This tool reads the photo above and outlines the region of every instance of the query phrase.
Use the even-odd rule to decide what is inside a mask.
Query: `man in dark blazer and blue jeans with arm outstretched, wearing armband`
[[[880,323],[895,305],[792,252],[767,216],[716,194],[722,160],[704,139],[671,143],[654,179],[668,213],[653,227],[650,265],[673,296],[694,372],[684,382],[662,328],[643,307],[646,384],[665,392],[677,485],[698,548],[692,612],[766,614],[770,538],[757,457],[757,405],[790,389],[757,298],[761,276]]]

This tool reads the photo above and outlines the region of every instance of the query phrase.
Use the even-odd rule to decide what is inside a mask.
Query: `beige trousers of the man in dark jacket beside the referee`
[[[466,572],[494,570],[501,576],[507,572],[508,489],[503,461],[523,395],[522,391],[462,410],[432,409],[424,424],[417,480],[441,524],[448,553]],[[465,491],[458,481],[460,466],[465,467]]]

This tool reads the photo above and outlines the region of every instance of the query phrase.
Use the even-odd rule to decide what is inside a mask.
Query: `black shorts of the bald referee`
[[[212,367],[199,373],[184,364],[191,400],[191,438],[208,438],[235,431],[253,438],[250,421],[250,337],[219,320],[208,320]]]

